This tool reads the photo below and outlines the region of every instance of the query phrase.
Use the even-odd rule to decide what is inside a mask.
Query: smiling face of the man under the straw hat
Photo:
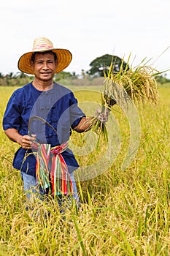
[[[31,61],[35,77],[43,81],[53,79],[56,66],[53,53],[36,53],[35,61]]]

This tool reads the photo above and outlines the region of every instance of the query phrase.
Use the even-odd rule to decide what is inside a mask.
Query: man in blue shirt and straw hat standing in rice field
[[[77,106],[72,91],[53,82],[55,73],[71,61],[69,50],[54,48],[46,37],[36,38],[32,50],[18,61],[20,71],[34,75],[34,80],[10,97],[3,127],[7,137],[20,145],[13,167],[21,171],[28,200],[51,188],[60,200],[69,195],[79,202],[73,175],[79,165],[68,141],[72,129],[88,130],[91,118]],[[107,121],[103,113],[98,118]]]

